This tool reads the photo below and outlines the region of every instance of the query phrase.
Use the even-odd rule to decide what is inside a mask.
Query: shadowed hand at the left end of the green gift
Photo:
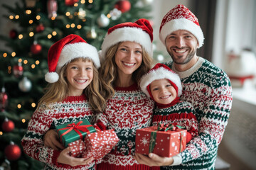
[[[55,130],[48,130],[43,137],[43,143],[45,147],[50,147],[54,150],[62,150],[65,147],[60,142],[58,133]]]

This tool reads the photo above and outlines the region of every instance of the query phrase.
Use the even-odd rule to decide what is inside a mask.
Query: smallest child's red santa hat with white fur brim
[[[176,89],[177,96],[181,96],[182,86],[180,77],[178,77],[178,74],[172,71],[165,64],[161,63],[156,64],[152,69],[149,70],[147,74],[142,77],[139,85],[146,96],[153,98],[149,85],[157,79],[168,79],[171,82],[171,85]]]

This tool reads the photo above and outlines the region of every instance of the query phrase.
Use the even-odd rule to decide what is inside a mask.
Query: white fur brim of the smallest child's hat
[[[169,79],[171,80],[176,86],[178,87],[178,96],[182,94],[182,86],[181,86],[181,79],[178,77],[178,74],[174,72],[170,72],[168,69],[164,67],[160,67],[158,69],[153,69],[149,73],[145,74],[142,77],[140,82],[140,87],[144,94],[150,98],[149,91],[147,91],[146,87],[151,84],[156,79]]]

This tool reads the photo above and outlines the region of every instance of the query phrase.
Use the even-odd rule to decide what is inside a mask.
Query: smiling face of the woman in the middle
[[[114,55],[114,61],[119,77],[132,75],[142,64],[142,46],[137,42],[121,42]]]

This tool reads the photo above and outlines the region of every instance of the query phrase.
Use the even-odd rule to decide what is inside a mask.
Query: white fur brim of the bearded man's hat
[[[159,33],[159,38],[161,42],[165,45],[165,40],[168,35],[173,33],[176,30],[188,30],[192,33],[196,39],[198,40],[199,47],[203,46],[203,31],[200,26],[196,25],[192,21],[189,21],[186,18],[178,18],[165,23],[161,28],[161,32]]]

